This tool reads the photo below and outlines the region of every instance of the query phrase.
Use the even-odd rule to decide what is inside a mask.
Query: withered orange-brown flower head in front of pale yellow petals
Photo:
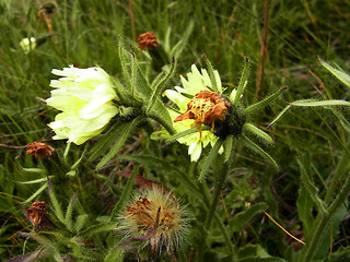
[[[208,126],[212,124],[213,129],[217,120],[223,121],[225,119],[230,106],[230,103],[222,95],[215,92],[201,91],[187,104],[187,110],[178,116],[174,122],[195,119],[199,128],[202,123],[206,123]]]

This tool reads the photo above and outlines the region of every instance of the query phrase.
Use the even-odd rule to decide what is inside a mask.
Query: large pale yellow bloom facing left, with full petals
[[[73,66],[52,70],[60,75],[51,80],[51,97],[47,105],[62,112],[48,126],[54,129],[55,140],[68,139],[78,145],[101,133],[118,112],[113,99],[117,95],[109,75],[101,68],[79,69]]]

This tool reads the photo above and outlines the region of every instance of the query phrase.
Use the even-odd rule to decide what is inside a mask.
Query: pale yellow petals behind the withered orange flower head
[[[175,86],[176,91],[167,90],[163,93],[168,99],[176,104],[180,112],[185,112],[188,108],[187,105],[190,103],[190,98],[186,95],[195,96],[201,91],[210,91],[211,82],[209,74],[206,69],[201,69],[201,73],[196,68],[195,64],[191,66],[191,72],[187,74],[187,80],[183,76],[182,83],[183,87]],[[214,78],[218,85],[219,93],[222,93],[221,80],[218,71],[214,71]],[[234,91],[235,92],[235,91]],[[185,94],[185,95],[184,95]],[[232,95],[234,96],[234,94]],[[171,117],[175,120],[180,114],[170,110]],[[192,128],[195,124],[194,119],[184,119],[180,121],[174,122],[174,128],[177,132],[182,132]],[[182,144],[186,144],[188,146],[188,154],[190,155],[191,162],[197,162],[201,155],[201,151],[208,144],[213,146],[218,141],[218,136],[211,132],[210,130],[201,131],[199,135],[197,132],[192,134],[188,134],[186,136],[177,139],[177,141]],[[223,147],[219,151],[220,154],[223,153]]]

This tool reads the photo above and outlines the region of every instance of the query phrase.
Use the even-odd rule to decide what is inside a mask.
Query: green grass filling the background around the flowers
[[[205,56],[229,90],[238,86],[244,59],[249,58],[250,74],[241,99],[243,105],[252,105],[287,86],[282,96],[247,117],[259,128],[267,127],[287,103],[349,98],[349,88],[317,60],[318,56],[350,71],[347,55],[350,3],[347,1],[267,1],[267,27],[264,28],[264,1],[65,0],[55,2],[52,32],[49,32],[47,21],[37,15],[43,3],[39,0],[0,1],[0,257],[4,261],[34,252],[37,242],[45,242],[19,235],[32,229],[23,215],[32,202],[23,202],[44,183],[22,184],[19,181],[47,175],[44,163],[26,155],[24,146],[28,143],[45,142],[63,159],[66,141],[51,140],[54,132],[47,127],[57,110],[44,102],[50,96],[49,80],[55,79],[52,69],[69,64],[98,66],[125,85],[122,63],[118,62],[118,39],[121,38],[127,53],[135,53],[145,79],[152,82],[159,72],[151,69],[148,53],[138,49],[135,38],[153,31],[167,51],[184,40],[175,75],[164,88],[180,85],[178,76],[186,75],[192,63],[206,68]],[[184,34],[191,23],[194,27],[187,31],[186,40]],[[267,32],[267,51],[261,79],[264,31]],[[19,43],[30,36],[46,37],[46,41],[26,55]],[[259,85],[261,90],[256,96]],[[56,217],[60,206],[66,217],[69,203],[77,194],[78,200],[70,207],[75,224],[65,231],[66,224],[56,217],[54,219],[62,230],[59,237],[38,236],[56,245],[50,251],[57,261],[65,252],[81,261],[120,260],[118,255],[124,253],[117,245],[120,238],[110,229],[115,225],[108,219],[117,203],[119,207],[122,201],[127,203],[127,199],[120,202],[120,195],[130,198],[130,192],[124,192],[127,183],[128,190],[129,187],[133,191],[140,190],[140,186],[128,182],[126,176],[137,166],[141,176],[163,183],[188,206],[191,230],[175,260],[340,261],[341,255],[348,258],[347,193],[343,192],[342,199],[336,198],[348,176],[349,133],[329,108],[348,121],[347,107],[293,107],[272,128],[264,129],[272,136],[275,145],[261,147],[277,162],[278,171],[240,142],[234,145],[230,170],[221,181],[219,172],[222,168],[218,160],[210,165],[206,180],[199,182],[197,178],[205,158],[199,165],[190,163],[185,145],[151,140],[150,134],[158,130],[151,120],[132,129],[119,154],[101,170],[95,169],[100,158],[90,160],[89,156],[98,141],[108,140],[107,135],[94,138],[86,145],[72,144],[63,162],[68,170],[84,155],[73,168],[69,182],[54,183],[58,204],[49,204],[49,212]],[[33,168],[42,170],[35,172]],[[337,172],[341,175],[332,180]],[[322,214],[317,200],[307,191],[307,181],[316,189],[314,193],[317,192],[320,203],[325,202],[325,210],[337,201],[342,203],[340,207],[332,206],[330,216]],[[215,188],[218,182],[222,182],[222,187]],[[329,193],[330,187],[335,191]],[[52,202],[48,190],[34,200]],[[211,227],[208,222],[206,224],[209,209],[214,210]],[[302,247],[287,237],[264,212],[306,245]],[[67,215],[67,221],[69,217]],[[324,231],[317,235],[320,241],[315,242],[318,221],[327,223],[320,226]],[[101,229],[103,226],[106,228]],[[82,234],[80,227],[90,228],[90,235]],[[74,238],[82,239],[83,245],[74,242]],[[66,247],[65,242],[69,241],[71,245]],[[311,242],[315,242],[312,251]],[[145,260],[147,252],[140,253]],[[166,258],[163,254],[156,259],[166,261]],[[132,252],[126,255],[127,259],[135,259]]]

